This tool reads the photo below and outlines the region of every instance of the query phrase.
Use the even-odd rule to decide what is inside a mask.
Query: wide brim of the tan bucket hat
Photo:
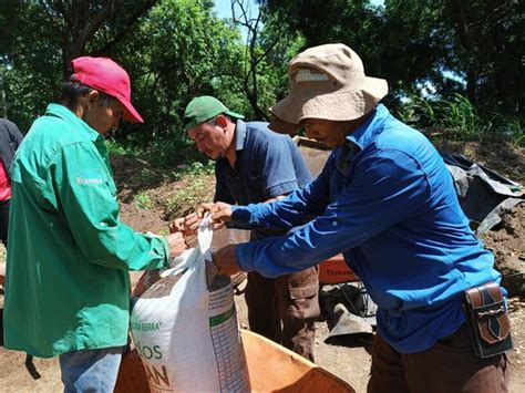
[[[313,90],[310,94],[292,92],[271,106],[270,111],[279,118],[276,127],[281,130],[291,130],[291,124],[295,124],[297,130],[305,118],[351,121],[372,111],[388,91],[385,80],[367,76],[360,86],[352,90],[325,94],[317,94]]]

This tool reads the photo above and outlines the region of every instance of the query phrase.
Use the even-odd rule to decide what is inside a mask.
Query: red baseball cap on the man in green
[[[107,58],[90,56],[73,59],[71,65],[73,66],[73,80],[119,100],[125,107],[125,120],[144,123],[131,104],[130,76],[122,66]]]

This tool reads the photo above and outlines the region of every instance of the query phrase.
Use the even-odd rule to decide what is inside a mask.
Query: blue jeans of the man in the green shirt
[[[111,393],[115,387],[124,347],[81,350],[60,355],[64,393]]]

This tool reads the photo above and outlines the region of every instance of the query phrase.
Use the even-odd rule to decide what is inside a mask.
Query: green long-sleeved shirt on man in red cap
[[[121,223],[102,136],[50,104],[11,166],[4,344],[50,358],[125,345],[128,270],[165,267],[165,239]]]

